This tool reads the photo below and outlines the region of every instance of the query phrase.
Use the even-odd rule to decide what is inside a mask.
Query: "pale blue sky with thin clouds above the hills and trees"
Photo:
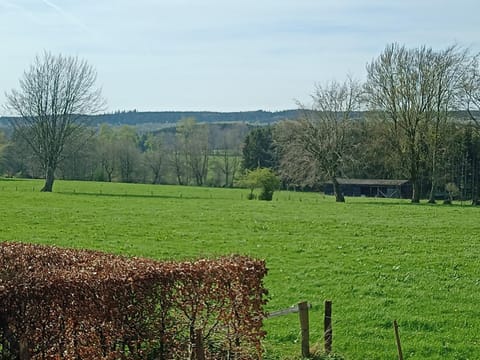
[[[280,111],[393,42],[480,51],[478,0],[0,0],[0,106],[36,55],[97,71],[107,111]],[[0,115],[8,115],[0,110]]]

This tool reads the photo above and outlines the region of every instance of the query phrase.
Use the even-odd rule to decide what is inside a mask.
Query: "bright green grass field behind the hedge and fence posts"
[[[155,259],[240,253],[267,261],[268,310],[307,300],[312,342],[333,301],[333,348],[347,359],[480,354],[480,208],[247,190],[0,180],[0,240]],[[295,314],[267,320],[267,359],[299,353]]]

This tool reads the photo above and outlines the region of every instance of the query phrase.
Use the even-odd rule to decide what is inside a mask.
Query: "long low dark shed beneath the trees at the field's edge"
[[[409,198],[412,186],[408,180],[385,179],[337,179],[345,196],[367,196],[385,198]],[[333,195],[331,182],[325,183],[326,195]]]

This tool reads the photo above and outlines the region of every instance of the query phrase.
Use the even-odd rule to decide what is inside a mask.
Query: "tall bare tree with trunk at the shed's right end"
[[[392,126],[390,135],[404,158],[412,182],[412,202],[420,201],[420,169],[426,156],[427,115],[434,99],[432,64],[435,54],[422,47],[407,49],[388,45],[367,65],[365,86],[372,109],[384,115]]]

